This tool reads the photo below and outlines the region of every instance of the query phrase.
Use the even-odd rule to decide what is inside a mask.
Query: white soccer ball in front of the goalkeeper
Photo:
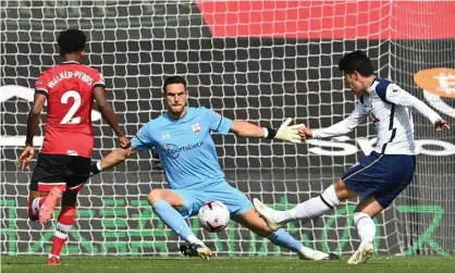
[[[209,233],[226,228],[230,219],[228,207],[219,201],[208,202],[199,209],[200,225]]]

